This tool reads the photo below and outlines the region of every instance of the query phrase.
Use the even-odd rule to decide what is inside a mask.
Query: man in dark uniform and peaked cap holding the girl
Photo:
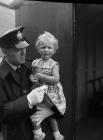
[[[29,43],[23,37],[23,30],[20,26],[0,37],[4,54],[0,64],[0,121],[4,140],[33,140],[30,116],[36,111],[35,105],[44,98],[45,87],[39,89],[39,94],[38,89],[30,92],[31,71],[24,65]],[[48,116],[48,111],[39,111],[38,120]]]

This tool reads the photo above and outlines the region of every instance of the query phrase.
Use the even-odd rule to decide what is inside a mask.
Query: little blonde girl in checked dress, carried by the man
[[[39,59],[35,59],[32,62],[33,73],[30,75],[30,80],[34,83],[32,88],[35,86],[48,85],[48,92],[43,106],[48,108],[55,105],[61,115],[64,115],[66,110],[66,100],[63,94],[63,88],[59,75],[59,64],[52,59],[58,49],[58,40],[49,32],[41,34],[36,41],[36,49],[40,54]],[[50,100],[48,100],[50,98]],[[33,122],[33,118],[32,122]],[[60,133],[56,119],[53,117],[48,118],[51,125],[51,130],[55,140],[64,140],[64,136]],[[36,140],[43,140],[45,133],[42,132],[40,125],[34,127],[34,137]]]

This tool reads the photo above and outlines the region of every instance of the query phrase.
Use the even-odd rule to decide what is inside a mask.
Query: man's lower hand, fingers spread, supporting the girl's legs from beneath
[[[44,119],[48,118],[49,116],[53,115],[54,112],[43,106],[43,107],[37,107],[37,112],[34,113],[30,118],[32,120],[32,123],[35,125],[39,125]]]

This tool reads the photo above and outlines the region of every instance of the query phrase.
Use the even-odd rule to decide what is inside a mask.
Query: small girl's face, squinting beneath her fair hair
[[[43,60],[49,60],[55,53],[55,48],[53,45],[41,44],[38,48],[38,52]]]

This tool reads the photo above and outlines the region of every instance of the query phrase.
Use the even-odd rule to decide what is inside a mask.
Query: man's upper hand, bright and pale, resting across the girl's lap
[[[43,85],[41,87],[33,89],[28,95],[27,99],[31,106],[34,106],[38,103],[41,103],[44,98],[44,94],[47,91],[48,87]]]

